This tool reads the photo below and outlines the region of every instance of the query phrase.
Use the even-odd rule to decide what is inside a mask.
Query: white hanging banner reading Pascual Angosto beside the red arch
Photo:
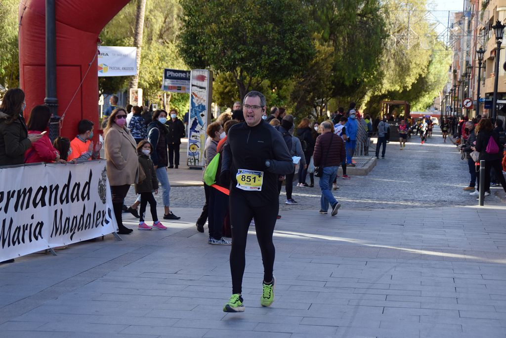
[[[136,47],[101,46],[98,54],[98,76],[137,75]]]

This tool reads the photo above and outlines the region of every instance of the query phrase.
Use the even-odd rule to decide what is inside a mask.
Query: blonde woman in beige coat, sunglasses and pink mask
[[[116,108],[111,113],[104,130],[107,178],[111,185],[112,205],[119,234],[130,234],[133,231],[123,225],[121,206],[130,186],[139,180],[137,143],[125,124],[126,111],[123,108]]]

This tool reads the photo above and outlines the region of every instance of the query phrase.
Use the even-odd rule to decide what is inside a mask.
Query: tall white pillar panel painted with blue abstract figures
[[[213,97],[213,73],[209,70],[191,71],[190,117],[188,121],[188,167],[203,168],[205,165],[205,131],[211,120]]]

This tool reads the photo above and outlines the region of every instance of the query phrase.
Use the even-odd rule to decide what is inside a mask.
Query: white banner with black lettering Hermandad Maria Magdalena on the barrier
[[[115,232],[105,160],[0,169],[0,262]]]

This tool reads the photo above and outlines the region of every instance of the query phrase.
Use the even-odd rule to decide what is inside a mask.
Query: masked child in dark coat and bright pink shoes
[[[155,194],[158,193],[158,180],[156,179],[153,162],[149,158],[151,151],[151,143],[146,140],[139,142],[137,145],[137,153],[139,154],[139,169],[142,168],[142,171],[145,174],[145,179],[135,184],[135,192],[141,195],[141,208],[139,210],[141,218],[139,220],[139,230],[151,230],[152,228],[167,230],[167,227],[158,221],[158,216],[156,215],[156,200],[152,191],[154,190]],[[142,178],[143,175],[140,174],[139,176]],[[151,217],[153,218],[152,227],[144,222],[144,214],[146,213],[146,206],[148,202],[151,210]]]

